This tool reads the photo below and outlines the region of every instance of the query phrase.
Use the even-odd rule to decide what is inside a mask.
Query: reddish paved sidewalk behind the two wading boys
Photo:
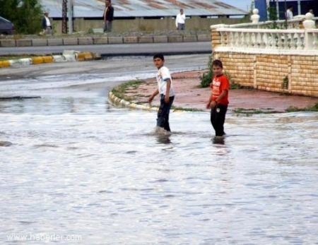
[[[176,91],[175,107],[206,110],[206,102],[210,96],[210,88],[199,88],[199,76],[203,71],[190,71],[173,73],[172,81]],[[147,102],[148,96],[157,88],[155,78],[145,81],[138,88],[126,90],[126,95],[134,97],[131,102]],[[299,109],[310,107],[318,103],[316,97],[299,95],[283,95],[276,92],[260,90],[230,90],[229,111],[257,112],[285,112],[289,107]],[[158,96],[153,100],[153,105],[159,105]]]

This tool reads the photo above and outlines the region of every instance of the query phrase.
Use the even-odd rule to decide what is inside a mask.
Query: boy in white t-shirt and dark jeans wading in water
[[[170,132],[169,113],[173,100],[175,99],[172,78],[169,69],[164,66],[165,58],[163,57],[163,54],[155,54],[153,56],[153,64],[158,68],[158,73],[156,75],[158,88],[148,98],[148,102],[151,103],[155,95],[160,94],[160,107],[158,109],[157,115],[157,127],[159,130],[165,129],[166,131]]]

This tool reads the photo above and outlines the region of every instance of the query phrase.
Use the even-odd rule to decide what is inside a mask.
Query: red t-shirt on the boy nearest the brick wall
[[[230,89],[230,83],[228,81],[228,78],[222,74],[220,76],[213,76],[212,83],[210,84],[210,88],[212,90],[212,100],[216,100],[218,95],[221,94],[223,90],[229,90]],[[222,100],[218,100],[219,104],[225,104],[228,105],[228,92],[226,93],[225,97],[223,97]]]

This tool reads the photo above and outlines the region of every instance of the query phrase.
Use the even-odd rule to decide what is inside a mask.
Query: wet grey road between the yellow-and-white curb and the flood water
[[[172,72],[202,70],[208,66],[209,54],[165,55],[165,65]],[[40,76],[64,76],[66,74],[84,74],[86,76],[118,77],[136,74],[155,74],[151,56],[114,56],[102,60],[57,62],[39,65],[17,65],[0,68],[0,85],[4,80],[20,79]],[[153,75],[154,76],[154,75]],[[61,80],[59,77],[57,80]],[[78,78],[74,78],[77,80]],[[80,78],[81,79],[81,78]],[[54,79],[53,79],[54,80]],[[63,79],[62,79],[63,80]]]

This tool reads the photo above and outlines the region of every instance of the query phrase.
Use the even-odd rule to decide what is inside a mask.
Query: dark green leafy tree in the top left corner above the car
[[[0,16],[10,20],[17,33],[35,34],[42,30],[40,0],[0,0]]]

